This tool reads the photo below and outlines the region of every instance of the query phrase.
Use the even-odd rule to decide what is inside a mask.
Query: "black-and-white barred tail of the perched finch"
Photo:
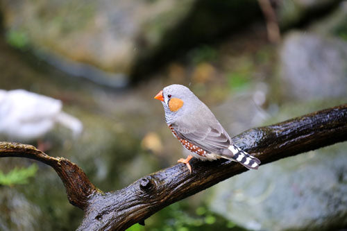
[[[260,160],[258,160],[256,157],[249,155],[248,153],[243,151],[241,148],[233,144],[230,145],[228,149],[232,152],[232,157],[230,160],[239,162],[240,164],[245,166],[247,169],[258,168],[260,164]]]

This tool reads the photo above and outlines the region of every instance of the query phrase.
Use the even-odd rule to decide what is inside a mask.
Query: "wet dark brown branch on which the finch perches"
[[[255,155],[262,164],[346,140],[347,104],[253,128],[233,137],[235,144]],[[229,160],[191,160],[192,174],[185,164],[176,164],[124,189],[104,193],[92,185],[76,164],[49,157],[33,146],[0,143],[0,157],[28,157],[52,166],[67,188],[70,203],[85,212],[78,230],[125,230],[167,205],[247,171]]]

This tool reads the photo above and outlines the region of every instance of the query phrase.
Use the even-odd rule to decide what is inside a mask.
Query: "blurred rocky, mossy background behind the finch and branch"
[[[153,99],[166,85],[189,86],[230,136],[346,103],[347,1],[0,0],[0,70],[0,89],[59,100],[42,109],[35,95],[27,107],[29,96],[3,92],[0,131],[9,110],[42,121],[37,108],[60,105],[41,135],[34,123],[15,137],[13,121],[1,140],[66,157],[114,191],[183,155]],[[62,111],[79,130],[56,123]],[[346,150],[266,164],[128,230],[343,230]],[[75,230],[82,219],[53,169],[1,158],[0,230]]]

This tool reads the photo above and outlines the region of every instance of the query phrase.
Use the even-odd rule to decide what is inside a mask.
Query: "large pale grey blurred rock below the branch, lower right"
[[[310,151],[221,182],[210,208],[250,230],[346,227],[346,148]]]

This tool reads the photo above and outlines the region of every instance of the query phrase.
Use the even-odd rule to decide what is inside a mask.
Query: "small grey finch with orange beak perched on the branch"
[[[217,121],[210,109],[201,102],[188,87],[169,85],[154,97],[162,101],[165,120],[174,136],[192,155],[178,162],[187,164],[192,172],[189,160],[233,160],[248,169],[257,169],[260,160],[249,155],[233,144],[228,132]]]

